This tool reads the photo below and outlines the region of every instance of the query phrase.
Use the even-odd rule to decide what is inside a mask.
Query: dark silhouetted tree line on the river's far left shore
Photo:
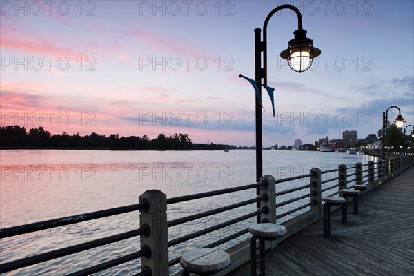
[[[20,126],[2,126],[0,129],[0,147],[6,148],[54,148],[54,149],[111,149],[111,150],[224,150],[222,144],[193,144],[188,134],[175,133],[169,137],[159,134],[150,139],[147,135],[119,137],[99,135],[80,136],[79,133],[69,135],[51,135],[43,127],[31,128],[29,131]],[[235,146],[233,146],[236,148]]]

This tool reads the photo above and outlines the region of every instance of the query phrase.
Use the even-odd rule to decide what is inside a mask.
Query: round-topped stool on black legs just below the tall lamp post
[[[271,223],[262,223],[262,224],[253,224],[248,228],[253,237],[250,239],[250,264],[251,264],[251,275],[257,275],[257,259],[256,259],[256,242],[259,239],[259,255],[260,255],[260,275],[264,276],[266,273],[265,264],[264,264],[264,253],[265,245],[264,241],[271,241],[277,239],[282,235],[287,233],[287,230],[284,226],[280,224],[271,224]]]

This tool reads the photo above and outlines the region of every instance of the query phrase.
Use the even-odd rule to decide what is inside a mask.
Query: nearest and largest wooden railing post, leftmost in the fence
[[[150,257],[141,257],[141,268],[148,266],[152,275],[168,275],[167,197],[161,190],[146,190],[139,203],[147,202],[148,209],[140,210],[141,227],[149,226],[150,235],[141,235],[141,249],[148,246]]]

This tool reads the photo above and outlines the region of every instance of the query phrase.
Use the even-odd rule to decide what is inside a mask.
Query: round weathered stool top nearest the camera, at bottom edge
[[[217,248],[199,248],[190,250],[181,256],[179,263],[184,268],[181,275],[213,275],[230,266],[230,255]]]

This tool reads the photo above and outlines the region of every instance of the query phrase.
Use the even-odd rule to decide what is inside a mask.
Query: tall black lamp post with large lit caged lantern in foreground
[[[255,105],[255,119],[256,119],[256,181],[260,181],[263,173],[262,162],[262,86],[268,90],[267,85],[267,26],[270,17],[276,12],[283,9],[293,10],[297,15],[298,28],[293,32],[294,38],[288,41],[288,48],[280,53],[282,59],[286,59],[292,70],[295,72],[304,72],[308,70],[315,57],[321,54],[321,50],[313,47],[312,39],[306,37],[306,30],[302,28],[302,14],[292,5],[281,5],[273,9],[263,24],[263,41],[261,39],[261,32],[259,28],[255,29],[255,86],[256,90],[256,105]],[[262,52],[263,52],[263,67],[262,67]],[[244,77],[242,74],[239,77]],[[244,77],[246,78],[246,77]],[[248,78],[246,78],[248,79]],[[263,79],[263,84],[262,84]],[[251,81],[250,79],[248,79]],[[271,88],[273,89],[273,88]],[[269,90],[268,90],[269,91]],[[272,90],[273,93],[273,90]],[[273,97],[273,96],[271,96]]]

